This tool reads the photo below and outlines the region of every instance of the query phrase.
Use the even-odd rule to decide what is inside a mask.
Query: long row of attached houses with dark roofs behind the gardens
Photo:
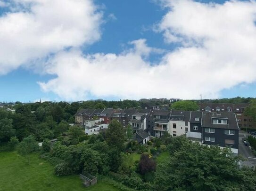
[[[230,146],[233,153],[238,153],[239,125],[234,112],[82,109],[75,114],[76,123],[83,125],[88,135],[106,129],[111,120],[121,122],[124,127],[131,124],[143,144],[149,136],[162,137],[167,132],[173,137],[186,135],[206,145]]]

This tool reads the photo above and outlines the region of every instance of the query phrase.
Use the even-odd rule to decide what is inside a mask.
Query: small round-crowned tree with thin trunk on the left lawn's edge
[[[22,142],[18,144],[18,153],[27,158],[28,164],[30,164],[30,154],[38,150],[38,143],[35,141],[35,138],[30,135],[27,138],[24,138]]]

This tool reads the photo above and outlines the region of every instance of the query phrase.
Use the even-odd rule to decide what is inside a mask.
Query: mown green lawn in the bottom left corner
[[[38,154],[31,155],[30,165],[16,152],[0,153],[0,191],[118,191],[100,181],[84,188],[79,176],[58,177],[53,166]]]

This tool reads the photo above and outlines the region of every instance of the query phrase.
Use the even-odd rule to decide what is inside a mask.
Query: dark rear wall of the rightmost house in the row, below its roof
[[[206,133],[205,127],[202,128],[202,140],[203,143],[206,145],[219,145],[222,147],[225,147],[227,144],[225,144],[225,139],[231,139],[235,141],[234,145],[228,145],[231,146],[231,148],[238,149],[239,145],[239,130],[235,130],[235,135],[225,135],[224,129],[218,129],[215,128],[215,133]],[[215,142],[206,141],[206,137],[214,137]]]

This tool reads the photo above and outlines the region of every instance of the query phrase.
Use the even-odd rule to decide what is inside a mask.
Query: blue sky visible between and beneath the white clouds
[[[12,1],[8,2],[12,3]],[[210,1],[198,0],[198,2],[208,4]],[[211,2],[220,4],[224,3],[223,0],[212,0]],[[162,21],[163,17],[170,11],[170,8],[163,8],[157,0],[94,0],[93,4],[97,7],[97,12],[101,12],[103,14],[101,18],[101,24],[99,24],[100,37],[97,40],[94,40],[93,43],[84,42],[81,46],[79,46],[79,49],[82,52],[83,56],[94,55],[96,53],[115,53],[116,55],[120,55],[123,54],[125,51],[133,48],[134,45],[130,42],[137,39],[146,39],[147,46],[163,50],[162,53],[154,53],[154,51],[152,51],[153,53],[150,53],[148,56],[143,57],[143,60],[145,62],[150,62],[151,65],[155,65],[159,64],[162,61],[163,57],[165,56],[165,52],[172,53],[180,47],[185,47],[181,45],[182,43],[179,41],[166,43],[166,38],[163,37],[165,29],[162,31],[154,30],[157,24],[159,24]],[[11,6],[11,4],[8,4],[8,6]],[[2,15],[0,19],[3,17],[4,14],[7,14],[5,12],[6,10],[6,8],[0,8],[0,13]],[[175,34],[177,34],[177,32],[175,32]],[[178,36],[180,36],[180,34],[178,34]],[[26,65],[30,61],[31,59],[27,59],[25,61],[25,64],[20,64],[18,67],[9,69],[8,72],[0,75],[0,101],[28,102],[38,99],[80,100],[98,98],[118,100],[120,98],[129,98],[122,96],[123,94],[119,95],[116,89],[113,89],[112,93],[107,93],[107,91],[99,92],[98,90],[86,89],[84,92],[82,92],[82,94],[85,94],[86,96],[69,97],[68,94],[63,93],[62,95],[60,93],[61,91],[58,92],[54,90],[54,88],[58,89],[58,84],[50,87],[47,86],[45,88],[46,90],[44,89],[43,91],[42,86],[38,84],[38,82],[45,82],[47,84],[49,80],[56,78],[58,74],[54,72],[51,73],[39,72],[38,70],[35,71],[33,67],[28,67]],[[3,61],[0,61],[0,64],[2,63]],[[70,75],[75,76],[75,74],[73,73],[71,73]],[[91,80],[94,81],[94,79]],[[173,80],[178,79],[174,78]],[[111,88],[111,82],[115,83],[115,81],[108,81],[107,84],[109,85],[109,88]],[[236,82],[236,84],[229,83],[226,85],[226,87],[220,88],[220,91],[218,91],[217,93],[207,94],[206,97],[255,97],[256,83],[251,82],[254,82],[254,79],[250,79],[249,81],[241,79],[241,81]],[[99,89],[101,86],[104,85],[104,83],[106,82],[102,82],[102,84],[99,84]],[[172,91],[172,86],[170,85],[170,87],[168,87],[167,84],[161,84],[160,86],[170,88],[170,91]],[[150,88],[150,84],[146,84],[146,86],[147,85]],[[140,88],[137,89],[136,87],[135,89],[137,91]],[[77,91],[76,93],[80,93],[78,90],[75,91]],[[175,89],[175,91],[177,90]],[[202,90],[200,91],[202,92]],[[198,91],[198,99],[200,91]],[[172,96],[172,94],[166,94],[165,96],[165,94],[155,95],[154,93],[152,93],[150,94],[150,97],[159,97],[159,95],[166,98]],[[176,95],[179,96],[182,94],[173,94],[173,97],[175,97]],[[147,97],[147,95],[138,94],[136,95],[136,97],[132,97],[131,99],[139,99],[143,97]],[[186,98],[190,97],[188,96]],[[191,95],[191,99],[194,98],[195,96]]]

